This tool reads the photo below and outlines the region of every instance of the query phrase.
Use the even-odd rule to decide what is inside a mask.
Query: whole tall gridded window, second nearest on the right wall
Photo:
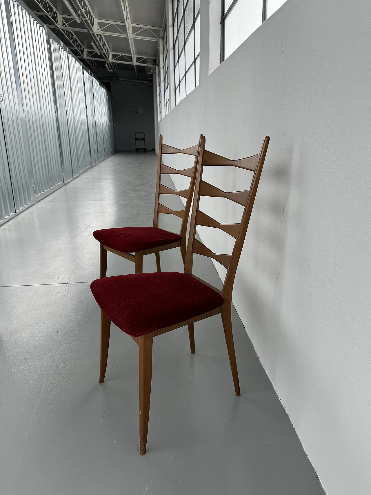
[[[173,0],[175,103],[200,82],[200,0]]]

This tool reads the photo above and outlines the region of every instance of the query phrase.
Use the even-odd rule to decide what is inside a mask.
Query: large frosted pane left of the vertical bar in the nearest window
[[[224,22],[224,58],[262,23],[262,0],[238,0]]]

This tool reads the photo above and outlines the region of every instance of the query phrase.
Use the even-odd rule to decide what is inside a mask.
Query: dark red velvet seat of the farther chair
[[[174,232],[155,227],[122,227],[93,232],[93,236],[104,246],[120,252],[136,252],[142,249],[165,246],[180,241]]]

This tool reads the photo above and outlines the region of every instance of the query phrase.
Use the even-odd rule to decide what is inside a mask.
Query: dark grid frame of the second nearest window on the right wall
[[[192,8],[193,19],[192,19],[192,23],[189,27],[189,31],[188,31],[186,37],[184,37],[182,49],[181,49],[181,51],[179,51],[179,33],[180,33],[182,28],[178,27],[178,10],[179,10],[181,3],[183,3],[183,11],[182,11],[180,23],[183,24],[183,33],[185,34],[185,12],[186,12],[186,9],[187,9],[189,2],[191,2],[193,4],[193,8]],[[172,0],[172,22],[173,22],[173,30],[172,31],[173,31],[173,53],[174,53],[174,95],[175,95],[175,104],[176,105],[178,105],[182,99],[184,99],[187,95],[189,95],[189,93],[191,91],[193,91],[193,89],[195,89],[199,85],[200,50],[198,51],[198,53],[196,55],[195,54],[195,52],[196,52],[196,29],[195,29],[195,26],[196,26],[197,20],[198,20],[198,22],[200,22],[199,21],[199,18],[200,18],[200,1],[198,1],[197,3],[198,3],[198,11],[195,14],[194,10],[195,10],[196,0]],[[177,83],[176,71],[178,70],[178,74],[179,74],[179,64],[180,64],[182,57],[184,57],[184,59],[185,59],[185,46],[186,46],[186,44],[187,44],[187,42],[191,36],[193,36],[192,62],[189,64],[188,68],[185,68],[186,63],[184,62],[185,71],[184,71],[184,74],[182,75],[182,77],[178,77],[178,83]],[[199,38],[198,38],[198,43],[199,43]],[[198,47],[199,47],[199,45],[198,45]],[[197,71],[197,61],[198,61],[198,71]],[[189,74],[192,70],[194,72],[194,77],[193,77],[194,85],[192,84],[191,85],[191,86],[193,86],[192,89],[189,92],[187,92],[187,83],[186,83],[187,75],[189,76]],[[198,74],[198,80],[197,80],[197,74]],[[181,85],[183,86],[183,84],[185,86],[185,89],[184,89],[185,96],[183,98],[181,98],[181,96],[180,96],[181,95]],[[177,95],[178,90],[179,90],[179,98]]]

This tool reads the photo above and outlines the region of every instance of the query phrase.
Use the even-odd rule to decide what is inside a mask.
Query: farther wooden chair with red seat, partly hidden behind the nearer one
[[[196,177],[195,163],[199,145],[200,140],[198,141],[198,145],[192,146],[191,148],[173,148],[172,146],[164,145],[162,143],[162,135],[160,134],[153,227],[122,227],[94,231],[93,236],[100,243],[100,277],[105,277],[107,274],[107,251],[133,261],[135,263],[135,273],[142,273],[143,256],[151,253],[155,253],[157,271],[160,272],[160,251],[172,249],[173,247],[181,248],[183,262],[185,261],[187,222],[194,190],[194,181]],[[174,153],[194,155],[193,167],[184,170],[176,170],[164,165],[162,163],[162,155]],[[180,174],[190,177],[189,188],[184,191],[175,191],[174,189],[164,186],[161,184],[161,175],[163,174]],[[171,210],[160,203],[160,194],[175,194],[182,198],[186,198],[185,208],[178,211]],[[159,213],[170,213],[182,218],[180,234],[159,229]]]

